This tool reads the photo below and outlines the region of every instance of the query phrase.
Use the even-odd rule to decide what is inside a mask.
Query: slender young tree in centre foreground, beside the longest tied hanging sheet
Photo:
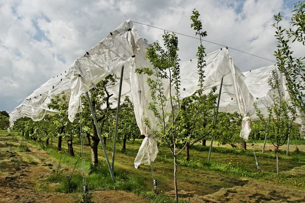
[[[196,35],[199,35],[200,39],[206,36],[205,31],[202,30],[202,24],[199,18],[199,12],[194,10],[191,20],[193,23],[191,27],[194,27]],[[177,149],[177,144],[181,143],[182,139],[186,140],[185,132],[179,130],[180,111],[181,111],[181,97],[180,97],[180,65],[177,51],[178,39],[174,33],[164,32],[163,46],[157,41],[150,44],[147,48],[147,58],[150,60],[152,67],[143,67],[137,69],[138,74],[146,74],[148,76],[147,84],[150,89],[150,96],[152,101],[148,105],[148,109],[151,110],[154,116],[159,120],[157,125],[160,130],[152,129],[148,119],[145,118],[145,124],[151,129],[151,131],[163,142],[173,155],[174,163],[174,188],[175,199],[178,202],[178,189],[177,189],[177,155],[181,153],[185,146],[181,149]],[[198,90],[199,101],[202,94],[203,82],[204,82],[204,47],[202,44],[198,47],[198,74],[199,74],[199,86]],[[199,106],[199,105],[198,105]],[[169,107],[169,108],[168,108]],[[198,121],[199,108],[194,115],[193,125],[196,125]],[[190,136],[190,135],[189,135]]]

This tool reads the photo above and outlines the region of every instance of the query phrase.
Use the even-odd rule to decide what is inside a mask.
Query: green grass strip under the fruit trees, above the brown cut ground
[[[28,141],[37,145],[33,141]],[[53,145],[56,144],[56,139],[53,140]],[[134,192],[139,196],[150,200],[151,202],[171,202],[172,198],[164,195],[154,196],[151,180],[151,172],[149,166],[141,165],[138,170],[133,167],[134,157],[141,144],[140,140],[135,142],[127,142],[126,151],[121,151],[120,145],[117,145],[116,162],[115,162],[115,176],[117,184],[113,185],[109,175],[107,175],[108,167],[105,166],[105,159],[103,152],[99,149],[99,157],[101,165],[97,168],[90,168],[90,148],[85,146],[85,173],[89,190],[110,190],[119,189],[128,192]],[[63,145],[63,153],[57,152],[56,148],[48,147],[48,155],[54,157],[58,162],[61,158],[61,163],[68,170],[60,169],[59,177],[50,177],[50,182],[61,182],[58,191],[69,192],[79,191],[82,192],[82,176],[81,176],[81,161],[76,164],[75,174],[72,176],[69,184],[66,175],[72,173],[74,164],[77,161],[76,157],[69,157],[65,152],[67,146]],[[100,148],[100,147],[99,147]],[[80,147],[74,144],[75,155],[80,151]],[[108,156],[111,156],[112,147],[107,145]],[[215,147],[212,151],[211,161],[207,162],[208,147],[194,145],[191,148],[191,160],[187,161],[184,154],[178,156],[178,185],[179,190],[196,191],[196,194],[204,195],[214,193],[220,188],[231,188],[234,186],[243,186],[247,181],[254,180],[273,185],[283,185],[285,187],[292,187],[298,189],[305,188],[305,176],[300,174],[295,169],[302,167],[305,164],[305,153],[302,151],[293,151],[286,156],[286,151],[282,151],[280,155],[280,177],[276,175],[276,159],[275,153],[256,152],[258,161],[264,172],[259,174],[256,170],[255,159],[252,149],[247,151],[236,148]],[[173,190],[172,182],[172,156],[166,147],[159,147],[159,154],[155,160],[155,176],[158,179],[159,189],[166,190],[167,192]],[[55,167],[54,167],[55,168]],[[57,166],[56,166],[57,168]],[[96,170],[96,171],[95,171]],[[292,173],[293,172],[293,173]],[[63,175],[65,174],[65,175]],[[55,176],[55,175],[52,175]],[[136,178],[133,178],[136,177]],[[140,182],[138,182],[140,181]],[[75,183],[77,183],[75,186]],[[91,184],[90,184],[91,183]],[[136,186],[140,184],[140,187]],[[69,187],[68,187],[69,186]],[[71,187],[70,187],[71,186]],[[138,187],[138,188],[137,188]],[[67,189],[68,188],[68,189]],[[70,189],[72,188],[72,189]],[[166,199],[169,198],[169,199]]]

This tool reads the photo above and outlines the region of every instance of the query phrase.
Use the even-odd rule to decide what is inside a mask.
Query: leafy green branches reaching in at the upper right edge
[[[296,58],[289,46],[290,43],[298,42],[305,45],[305,0],[298,1],[292,11],[290,28],[280,26],[283,16],[275,15],[275,37],[278,40],[278,50],[275,51],[279,70],[287,79],[289,93],[293,104],[305,113],[305,56]],[[292,42],[291,42],[292,40]]]

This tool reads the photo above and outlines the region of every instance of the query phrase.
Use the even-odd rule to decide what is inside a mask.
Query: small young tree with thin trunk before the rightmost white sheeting
[[[254,103],[254,108],[263,126],[268,127],[268,139],[276,147],[277,174],[279,176],[279,147],[287,141],[297,113],[295,107],[290,104],[290,100],[285,100],[276,71],[272,72],[268,84],[271,87],[273,101],[273,106],[267,107],[268,117],[265,119],[256,103]]]

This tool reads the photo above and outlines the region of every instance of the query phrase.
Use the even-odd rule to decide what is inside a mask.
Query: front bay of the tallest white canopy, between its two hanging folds
[[[69,102],[69,119],[73,121],[76,113],[81,109],[80,96],[93,88],[97,83],[105,79],[109,74],[119,76],[121,66],[124,65],[124,78],[121,97],[131,96],[134,104],[134,112],[141,134],[146,138],[143,141],[145,149],[140,148],[140,159],[143,163],[154,161],[158,148],[151,132],[144,124],[144,118],[148,118],[152,127],[157,128],[157,120],[153,112],[147,109],[151,101],[149,87],[146,84],[146,76],[137,75],[137,67],[150,67],[146,58],[147,43],[140,38],[139,33],[130,20],[125,21],[110,33],[99,44],[90,49],[85,55],[76,59],[70,67],[71,97]],[[112,100],[117,96],[118,84],[110,87],[113,93]],[[169,108],[169,105],[167,105]],[[143,145],[142,144],[142,145]]]

